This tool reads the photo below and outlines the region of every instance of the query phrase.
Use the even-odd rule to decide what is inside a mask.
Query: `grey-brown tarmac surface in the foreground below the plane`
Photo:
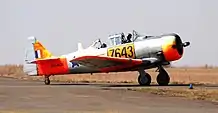
[[[206,101],[108,87],[0,77],[0,113],[218,113]]]

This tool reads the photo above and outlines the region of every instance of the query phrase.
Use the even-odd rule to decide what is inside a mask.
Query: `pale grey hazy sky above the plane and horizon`
[[[217,0],[0,0],[0,65],[24,62],[35,36],[54,55],[114,33],[178,33],[190,41],[176,66],[218,66]]]

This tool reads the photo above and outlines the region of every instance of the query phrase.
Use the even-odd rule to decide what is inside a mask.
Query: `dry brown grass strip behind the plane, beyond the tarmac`
[[[22,65],[0,66],[0,75],[19,79],[42,80],[42,77],[27,76],[22,71]],[[218,68],[167,68],[171,77],[171,84],[218,84]],[[156,83],[155,69],[147,70]],[[53,81],[66,82],[107,82],[107,83],[137,83],[138,72],[97,73],[97,74],[70,74],[53,76]]]

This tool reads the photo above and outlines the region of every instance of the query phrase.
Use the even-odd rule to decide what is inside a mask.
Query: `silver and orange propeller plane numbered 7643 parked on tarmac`
[[[44,76],[45,85],[54,75],[138,71],[139,85],[149,86],[151,76],[145,70],[151,68],[159,72],[158,85],[168,85],[170,76],[164,66],[181,59],[190,45],[176,33],[147,36],[133,30],[127,38],[124,33],[109,35],[108,45],[97,39],[87,48],[78,43],[77,51],[54,56],[36,37],[28,40],[23,71],[29,76]]]

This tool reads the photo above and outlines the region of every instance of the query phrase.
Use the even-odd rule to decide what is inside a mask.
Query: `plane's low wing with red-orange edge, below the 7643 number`
[[[102,72],[111,72],[142,65],[144,60],[105,56],[82,56],[71,60],[71,62],[76,62],[87,67],[99,69]]]

